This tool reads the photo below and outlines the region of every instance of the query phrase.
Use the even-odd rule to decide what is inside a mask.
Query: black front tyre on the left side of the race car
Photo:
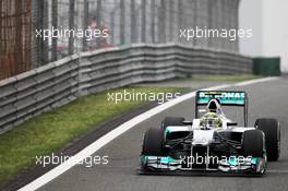
[[[151,128],[146,131],[143,141],[142,155],[165,156],[163,128]]]

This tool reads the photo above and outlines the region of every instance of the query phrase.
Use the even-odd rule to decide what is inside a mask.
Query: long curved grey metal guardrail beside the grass
[[[187,74],[240,74],[252,69],[249,57],[175,44],[73,55],[0,81],[0,132],[82,95]]]

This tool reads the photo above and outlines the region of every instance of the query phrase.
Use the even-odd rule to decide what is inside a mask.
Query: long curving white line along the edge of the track
[[[244,84],[244,83],[245,84],[253,84],[253,83],[266,82],[266,81],[271,81],[271,80],[274,80],[274,79],[272,79],[272,77],[260,79],[260,80],[257,79],[257,80],[252,80],[252,81],[239,83],[240,85],[238,84],[238,86],[241,86],[241,84]],[[235,84],[235,85],[237,85],[237,84]],[[228,88],[231,86],[233,86],[233,84],[229,84],[229,85],[224,84],[224,85],[207,87],[205,89],[217,91],[217,89],[221,89],[221,88]],[[164,110],[166,110],[166,109],[168,109],[168,108],[170,108],[170,107],[172,107],[179,103],[182,103],[187,99],[195,97],[195,93],[196,92],[185,94],[185,95],[180,96],[176,99],[172,99],[172,100],[167,102],[163,105],[159,105],[159,106],[157,106],[157,107],[155,107],[155,108],[153,108],[153,109],[151,109],[151,110],[148,110],[148,111],[146,111],[140,116],[132,118],[131,120],[124,122],[123,124],[119,126],[118,128],[116,128],[112,131],[108,132],[107,134],[103,135],[100,139],[96,140],[94,143],[89,144],[88,146],[83,148],[81,152],[79,152],[76,155],[72,156],[71,158],[69,158],[68,160],[62,163],[61,165],[55,167],[53,169],[46,172],[41,177],[37,178],[36,180],[34,180],[31,183],[26,184],[25,187],[21,188],[19,191],[33,191],[33,190],[36,190],[36,189],[43,187],[44,184],[53,180],[55,178],[57,178],[61,174],[65,172],[67,170],[69,170],[73,166],[77,165],[80,162],[82,162],[86,157],[88,157],[92,154],[94,154],[95,152],[97,152],[99,148],[101,148],[104,145],[106,145],[107,143],[109,143],[110,141],[116,139],[117,136],[123,134],[125,131],[134,128],[136,124],[145,121],[146,119],[149,119],[151,117],[155,116],[156,114],[159,114],[159,112],[161,112],[161,111],[164,111]]]

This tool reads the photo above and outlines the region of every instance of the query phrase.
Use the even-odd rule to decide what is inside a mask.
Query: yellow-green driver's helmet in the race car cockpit
[[[223,121],[217,114],[207,112],[201,118],[200,126],[205,128],[221,128]]]

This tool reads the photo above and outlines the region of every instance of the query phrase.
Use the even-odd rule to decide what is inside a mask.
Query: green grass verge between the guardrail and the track
[[[176,93],[175,87],[125,87],[109,91],[134,93]],[[97,128],[98,124],[145,100],[108,102],[108,92],[81,97],[69,105],[35,117],[0,135],[0,184],[13,178],[20,170],[35,164],[36,156],[49,155],[73,139]]]

